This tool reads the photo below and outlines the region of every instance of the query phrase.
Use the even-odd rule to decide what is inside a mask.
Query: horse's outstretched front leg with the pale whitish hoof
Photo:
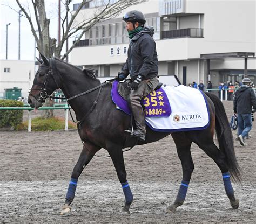
[[[85,166],[89,164],[89,162],[91,161],[95,153],[99,150],[100,150],[100,147],[96,145],[93,145],[90,143],[84,143],[83,150],[71,174],[71,180],[69,183],[68,192],[66,193],[66,201],[64,206],[62,207],[62,211],[60,212],[60,215],[64,215],[70,212],[71,210],[70,204],[75,198],[78,177],[82,173]]]

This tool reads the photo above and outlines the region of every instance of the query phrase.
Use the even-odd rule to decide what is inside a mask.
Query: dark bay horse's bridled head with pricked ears
[[[48,98],[54,90],[59,88],[56,74],[53,74],[53,62],[55,59],[47,59],[42,53],[42,59],[37,60],[40,66],[36,72],[33,86],[29,90],[28,103],[32,108],[42,107],[45,99]],[[55,71],[57,72],[57,71]]]

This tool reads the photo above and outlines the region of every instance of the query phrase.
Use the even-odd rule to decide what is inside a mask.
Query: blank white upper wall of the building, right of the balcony
[[[255,43],[255,4],[253,0],[186,0],[186,12],[204,13],[207,41],[232,42],[235,46]]]

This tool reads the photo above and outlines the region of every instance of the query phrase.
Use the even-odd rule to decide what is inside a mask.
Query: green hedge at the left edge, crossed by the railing
[[[23,102],[16,100],[0,100],[0,107],[23,107]],[[18,129],[22,124],[23,110],[0,110],[0,128]]]

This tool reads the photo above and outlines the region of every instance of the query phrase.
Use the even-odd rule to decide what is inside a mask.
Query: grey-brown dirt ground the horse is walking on
[[[230,117],[232,102],[224,105]],[[170,136],[124,153],[134,196],[130,215],[119,213],[124,196],[111,159],[98,157],[79,178],[70,215],[59,215],[82,149],[77,131],[0,132],[0,222],[255,222],[255,121],[253,125],[248,146],[235,142],[244,174],[242,185],[233,183],[238,210],[229,204],[217,165],[193,144],[195,169],[185,203],[176,213],[164,211],[176,198],[182,177]],[[107,155],[104,150],[98,154]]]

